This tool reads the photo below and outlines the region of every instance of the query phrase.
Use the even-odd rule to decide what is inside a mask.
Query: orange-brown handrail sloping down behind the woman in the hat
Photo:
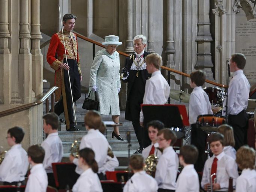
[[[74,31],[73,31],[73,32],[74,32]],[[77,37],[79,37],[79,38],[81,38],[81,39],[83,39],[83,40],[85,40],[85,41],[88,41],[88,42],[92,43],[92,44],[93,44],[93,50],[95,50],[95,44],[98,45],[98,46],[100,46],[100,47],[104,47],[104,48],[105,48],[105,46],[103,46],[101,43],[99,43],[99,42],[97,42],[97,41],[93,41],[92,39],[87,38],[87,37],[85,37],[85,36],[83,36],[83,35],[81,35],[81,34],[78,34],[77,32],[74,32],[74,33],[77,35]],[[125,57],[130,56],[130,55],[128,55],[128,54],[126,54],[126,53],[124,53],[124,52],[121,52],[121,51],[117,51],[117,52],[118,52],[120,55],[123,55],[123,56],[125,56]],[[94,51],[93,51],[92,54],[93,54],[93,59],[94,59],[94,54],[95,54]],[[184,76],[184,77],[190,77],[190,75],[187,74],[187,73],[184,73],[184,72],[181,72],[181,71],[177,71],[177,70],[175,70],[175,69],[171,69],[171,68],[166,67],[166,66],[161,66],[161,68],[164,69],[164,70],[167,70],[168,72],[170,71],[170,72],[173,72],[173,73],[182,75],[182,76]],[[214,81],[210,81],[210,80],[207,80],[207,79],[205,80],[205,82],[206,82],[206,83],[210,83],[210,84],[212,84],[212,85],[214,85],[214,86],[227,88],[226,85],[219,84],[219,83],[215,83]]]

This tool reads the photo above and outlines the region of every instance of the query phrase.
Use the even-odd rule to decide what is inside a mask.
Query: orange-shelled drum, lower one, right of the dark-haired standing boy
[[[225,118],[214,115],[199,115],[197,117],[199,127],[204,131],[217,131],[217,127],[225,123]]]

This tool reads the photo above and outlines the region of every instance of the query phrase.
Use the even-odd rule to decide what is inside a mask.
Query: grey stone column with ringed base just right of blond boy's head
[[[174,38],[173,38],[173,32],[175,26],[173,25],[174,21],[174,0],[167,0],[167,47],[165,53],[167,54],[167,67],[175,67],[174,62],[174,54],[175,54],[175,48],[174,48]]]

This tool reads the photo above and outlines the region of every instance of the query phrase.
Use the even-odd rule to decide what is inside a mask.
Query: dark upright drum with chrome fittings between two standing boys
[[[218,113],[222,110],[222,101],[224,96],[223,89],[218,87],[205,87],[203,90],[207,93],[212,105],[212,112]]]

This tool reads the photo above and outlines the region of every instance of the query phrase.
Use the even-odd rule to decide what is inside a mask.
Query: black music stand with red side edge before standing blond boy
[[[185,105],[142,105],[144,116],[144,147],[151,144],[146,130],[147,124],[152,120],[163,122],[165,127],[184,127],[188,124],[187,111]]]

